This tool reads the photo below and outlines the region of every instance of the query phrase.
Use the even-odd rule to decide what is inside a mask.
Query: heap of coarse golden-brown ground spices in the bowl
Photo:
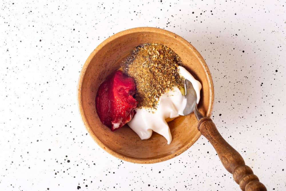
[[[180,57],[163,44],[145,43],[137,46],[121,64],[125,74],[136,83],[137,108],[155,108],[160,96],[174,86],[183,87],[178,66]]]

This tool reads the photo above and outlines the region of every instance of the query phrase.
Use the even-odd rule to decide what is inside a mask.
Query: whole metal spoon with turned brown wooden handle
[[[194,90],[192,83],[187,79],[185,97],[187,99],[187,104],[183,114],[188,115],[194,111],[198,120],[198,130],[215,148],[221,163],[227,171],[233,174],[233,179],[239,184],[241,190],[267,190],[265,186],[259,182],[257,176],[253,174],[251,168],[245,165],[242,156],[223,139],[212,120],[208,117],[204,117],[198,111],[196,91]]]

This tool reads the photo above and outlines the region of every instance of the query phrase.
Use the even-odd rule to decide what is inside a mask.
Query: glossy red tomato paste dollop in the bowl
[[[132,77],[122,71],[114,71],[98,88],[96,95],[96,111],[100,121],[112,131],[129,122],[136,108],[133,98],[136,85]]]

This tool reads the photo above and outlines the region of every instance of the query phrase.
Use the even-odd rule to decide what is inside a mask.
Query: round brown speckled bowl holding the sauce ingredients
[[[156,163],[178,156],[198,138],[194,114],[180,116],[169,122],[173,140],[153,132],[148,140],[141,140],[127,125],[112,132],[104,126],[96,113],[95,97],[100,83],[134,47],[142,43],[162,43],[174,50],[184,67],[202,84],[199,110],[210,117],[214,102],[214,89],[210,71],[198,51],[182,37],[163,29],[139,27],[112,35],[103,41],[86,60],[78,81],[78,106],[86,129],[108,153],[134,163]]]

